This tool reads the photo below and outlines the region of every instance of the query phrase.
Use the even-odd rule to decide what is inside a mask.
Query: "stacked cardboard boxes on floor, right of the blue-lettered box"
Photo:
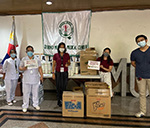
[[[87,117],[110,118],[111,97],[108,85],[102,82],[86,82],[85,86]]]

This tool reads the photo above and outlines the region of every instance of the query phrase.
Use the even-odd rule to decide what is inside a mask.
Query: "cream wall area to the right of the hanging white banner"
[[[105,47],[112,49],[112,58],[128,58],[138,46],[138,34],[150,36],[150,10],[105,11],[92,14],[90,46],[101,54]]]

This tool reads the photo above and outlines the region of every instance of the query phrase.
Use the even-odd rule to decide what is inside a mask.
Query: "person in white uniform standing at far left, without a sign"
[[[6,88],[6,101],[9,106],[16,103],[15,91],[19,78],[20,60],[16,57],[16,50],[10,50],[10,58],[6,59],[3,64],[3,79]]]

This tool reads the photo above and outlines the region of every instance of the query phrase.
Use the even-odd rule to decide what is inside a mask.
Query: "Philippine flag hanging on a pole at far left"
[[[9,37],[9,45],[8,45],[8,50],[7,53],[4,57],[4,59],[2,60],[1,64],[4,63],[4,61],[10,57],[10,50],[11,49],[16,49],[16,47],[18,47],[18,42],[17,42],[17,38],[16,38],[16,32],[15,32],[15,18],[13,16],[13,23],[12,23],[12,29],[11,29],[11,33],[10,33],[10,37]]]

